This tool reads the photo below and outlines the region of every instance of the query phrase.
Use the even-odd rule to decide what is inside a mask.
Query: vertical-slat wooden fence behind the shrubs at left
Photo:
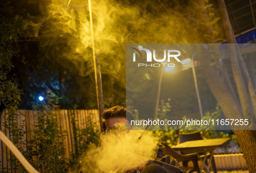
[[[27,144],[33,138],[32,130],[36,124],[37,111],[34,110],[17,110],[17,124],[18,127],[22,127],[21,123],[24,122],[23,130],[26,132],[23,136],[23,142]],[[100,119],[98,116],[98,110],[55,110],[52,111],[58,118],[58,128],[61,132],[66,133],[62,138],[62,142],[65,148],[65,157],[69,158],[72,153],[75,153],[75,139],[74,139],[74,123],[72,123],[72,115],[75,115],[75,127],[85,129],[91,123],[96,123],[96,128],[100,130]],[[0,130],[4,131],[4,122],[6,122],[8,113],[6,110],[0,113]],[[90,122],[88,122],[90,121]],[[10,138],[10,133],[5,135]],[[27,144],[28,145],[28,144]],[[26,151],[26,147],[24,147]],[[10,168],[8,160],[10,159],[10,149],[0,141],[0,169]],[[33,157],[35,160],[36,157]]]

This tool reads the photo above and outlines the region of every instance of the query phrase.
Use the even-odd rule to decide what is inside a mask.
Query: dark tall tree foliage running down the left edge
[[[3,123],[10,141],[24,154],[26,144],[23,141],[25,123],[17,122],[16,110],[20,101],[20,91],[14,76],[12,59],[19,53],[19,35],[24,31],[20,16],[16,15],[12,0],[1,1],[0,6],[0,106],[6,109],[6,121]],[[18,125],[19,123],[19,125]],[[2,125],[2,124],[1,124]],[[0,125],[0,126],[1,126]],[[19,160],[10,153],[8,157],[10,167],[3,167],[0,173],[23,170]]]

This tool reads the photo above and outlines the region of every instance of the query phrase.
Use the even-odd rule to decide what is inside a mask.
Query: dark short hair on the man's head
[[[121,106],[111,107],[107,110],[104,110],[101,118],[101,126],[103,129],[106,129],[106,120],[115,117],[125,117],[126,120],[134,120],[134,115],[129,110]]]

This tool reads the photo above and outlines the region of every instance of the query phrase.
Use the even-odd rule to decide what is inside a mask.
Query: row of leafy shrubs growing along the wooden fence
[[[65,157],[65,148],[62,139],[67,137],[67,132],[62,132],[58,124],[58,114],[54,110],[58,110],[58,100],[60,98],[48,95],[42,104],[35,105],[34,115],[35,125],[32,139],[27,143],[24,142],[24,136],[27,134],[25,122],[17,122],[17,107],[8,109],[8,118],[4,125],[4,132],[10,134],[10,140],[16,145],[26,159],[32,164],[36,170],[47,173],[65,173],[71,168],[75,171],[81,168],[82,158],[87,152],[87,148],[91,144],[99,145],[100,132],[97,124],[87,118],[86,128],[79,128],[75,116],[77,111],[71,112],[71,126],[73,126],[73,134],[75,139],[75,153],[71,158]],[[75,109],[77,107],[75,106]],[[0,173],[13,173],[20,170],[27,173],[19,160],[13,154],[10,154],[10,167],[3,167]],[[36,159],[35,159],[36,158]]]

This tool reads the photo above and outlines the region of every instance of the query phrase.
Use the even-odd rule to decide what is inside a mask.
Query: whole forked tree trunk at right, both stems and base
[[[230,61],[233,76],[237,85],[239,99],[234,92],[234,88],[231,84],[230,77],[227,72],[227,68],[222,59],[215,60],[216,65],[210,66],[211,59],[207,53],[207,50],[205,50],[205,52],[199,53],[198,58],[202,63],[202,69],[205,75],[207,85],[211,89],[211,92],[214,94],[217,102],[220,104],[220,107],[223,110],[227,119],[245,119],[246,117],[248,117],[249,121],[252,121],[250,129],[253,129],[255,128],[255,113],[253,112],[253,110],[255,110],[253,109],[253,107],[256,107],[255,91],[253,90],[253,85],[249,73],[246,69],[245,63],[243,61],[243,57],[241,56],[237,45],[235,45],[236,40],[228,18],[224,0],[217,1],[223,20],[227,42],[233,43],[229,44],[231,53]],[[207,33],[208,35],[208,37],[205,37],[205,40],[202,42],[216,43],[216,41],[214,41],[215,39],[212,33],[212,28],[204,25],[205,23],[209,23],[211,21],[210,18],[205,15],[207,14],[207,12],[204,8],[205,4],[203,0],[201,0],[200,5],[204,5],[202,6],[202,11],[200,13],[201,15],[204,15],[201,16],[202,22],[200,31],[202,33]],[[209,37],[209,35],[211,35],[211,37]],[[253,104],[251,104],[251,101]],[[234,130],[234,133],[236,134],[240,147],[243,151],[248,170],[250,171],[250,173],[256,173],[256,131],[237,130],[237,127],[231,127]]]

